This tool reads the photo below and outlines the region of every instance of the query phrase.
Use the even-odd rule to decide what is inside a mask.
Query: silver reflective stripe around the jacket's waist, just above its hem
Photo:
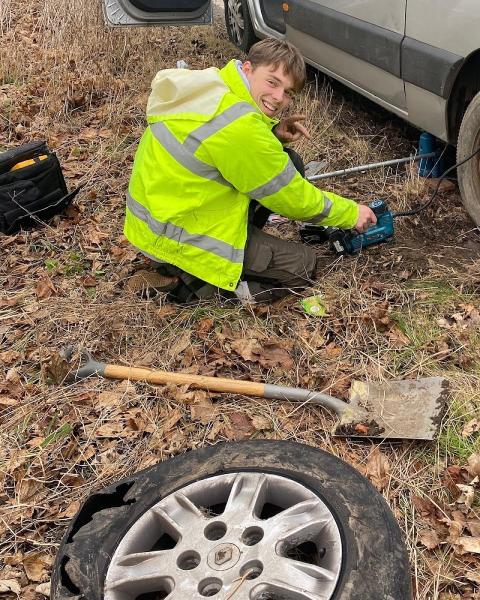
[[[217,240],[216,238],[199,233],[188,233],[183,227],[178,227],[169,222],[157,221],[152,217],[148,210],[137,202],[127,193],[127,208],[137,219],[146,223],[151,231],[156,235],[167,237],[179,244],[188,244],[201,250],[211,252],[220,258],[224,258],[232,263],[243,264],[243,248],[234,248],[232,245]]]

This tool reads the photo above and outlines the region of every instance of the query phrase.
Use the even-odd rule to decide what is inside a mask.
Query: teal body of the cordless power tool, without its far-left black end
[[[336,230],[330,236],[332,248],[338,254],[356,254],[366,246],[387,242],[393,237],[393,214],[385,200],[374,200],[369,204],[377,217],[377,223],[364,233]]]

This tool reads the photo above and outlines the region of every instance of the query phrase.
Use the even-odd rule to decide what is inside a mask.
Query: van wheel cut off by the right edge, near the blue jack
[[[457,163],[480,147],[480,93],[468,105],[457,140]],[[468,214],[480,226],[480,155],[458,167],[458,184]]]

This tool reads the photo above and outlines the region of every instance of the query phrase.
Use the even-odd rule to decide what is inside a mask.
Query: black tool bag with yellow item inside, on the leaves
[[[0,154],[0,232],[43,225],[65,210],[79,190],[68,192],[58,158],[46,142]]]

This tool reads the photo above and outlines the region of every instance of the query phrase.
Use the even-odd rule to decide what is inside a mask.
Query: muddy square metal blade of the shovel
[[[339,425],[335,435],[381,439],[433,440],[448,402],[448,381],[443,377],[404,379],[385,383],[354,381],[350,405],[368,412],[378,425]]]

